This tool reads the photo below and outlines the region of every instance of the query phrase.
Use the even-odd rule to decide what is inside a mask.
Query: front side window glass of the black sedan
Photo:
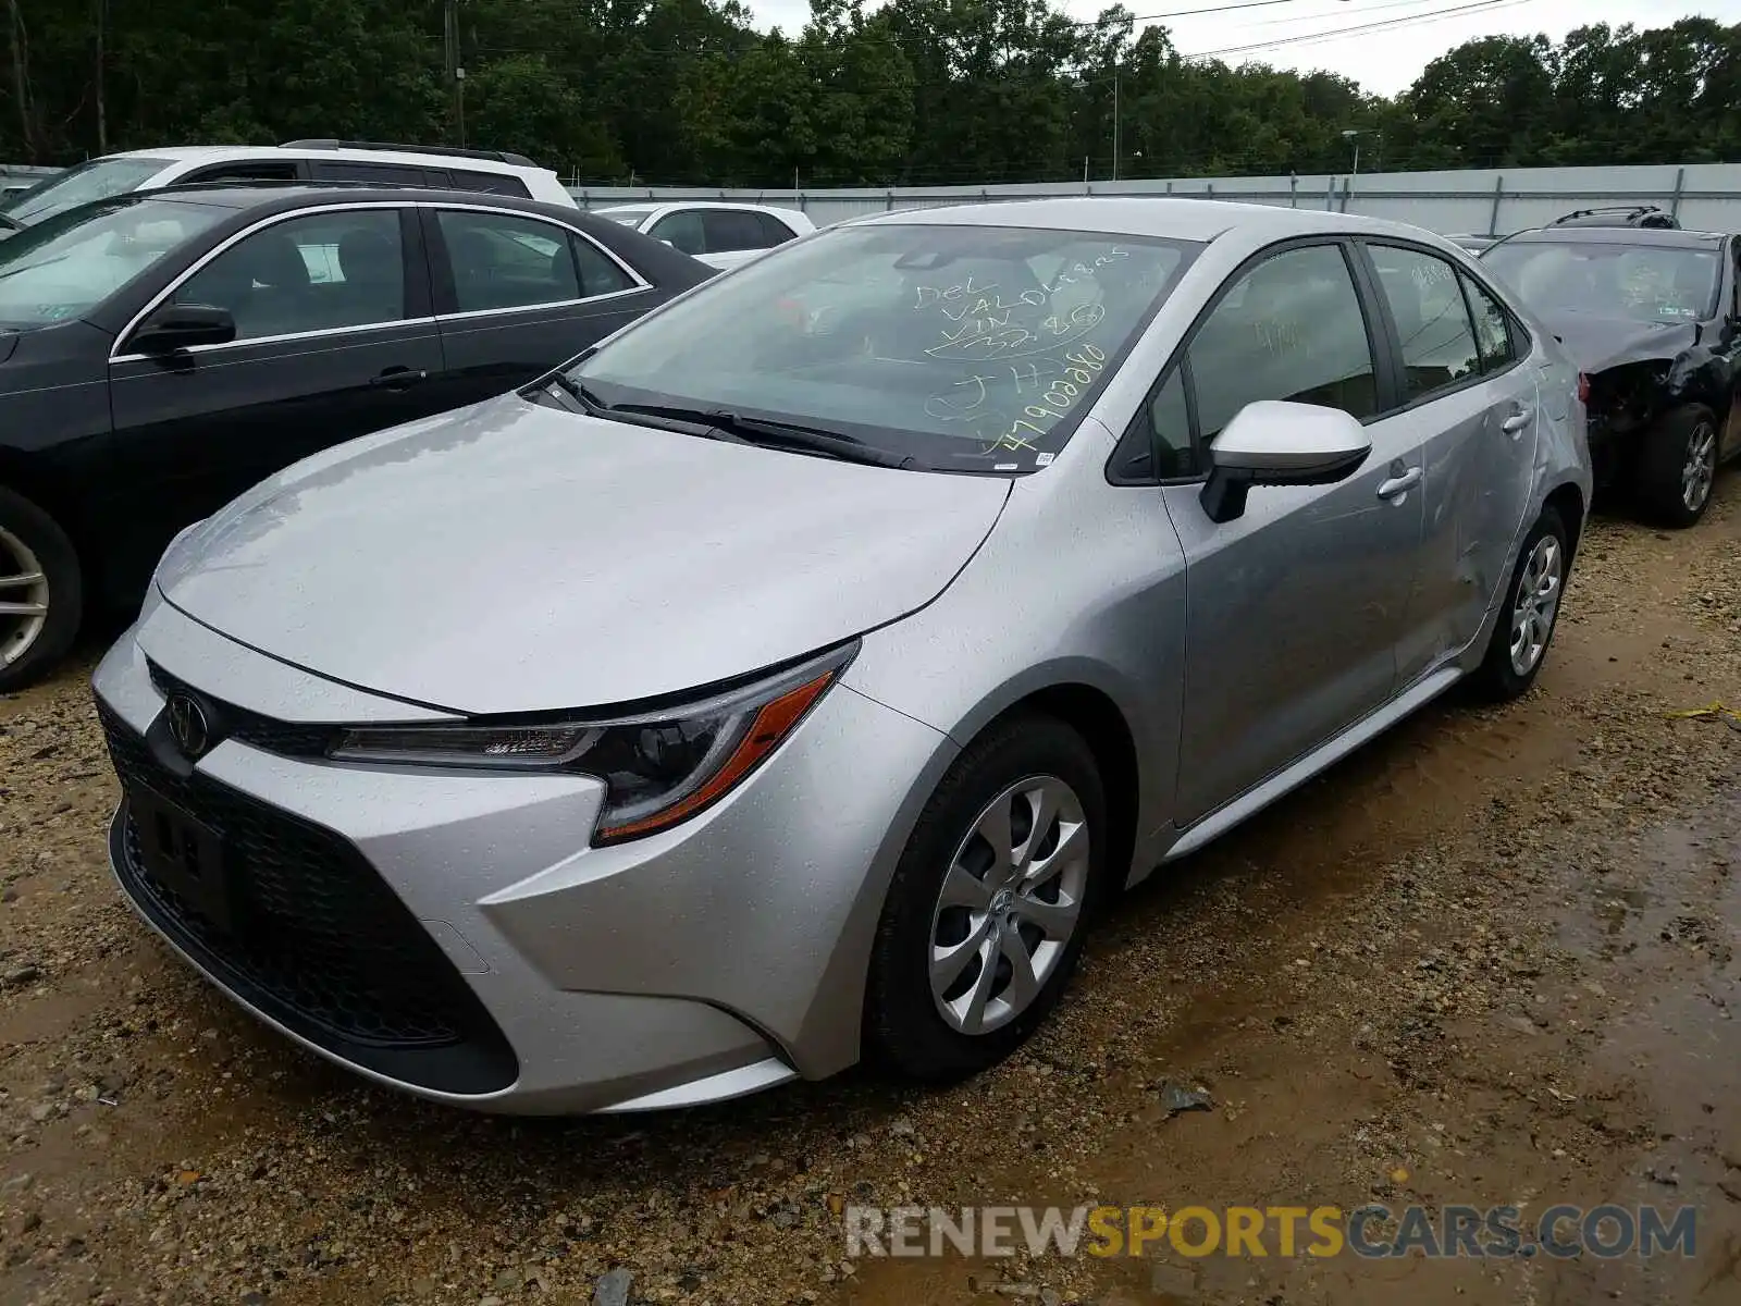
[[[397,322],[406,315],[399,211],[273,223],[193,273],[174,303],[230,310],[237,340]]]

